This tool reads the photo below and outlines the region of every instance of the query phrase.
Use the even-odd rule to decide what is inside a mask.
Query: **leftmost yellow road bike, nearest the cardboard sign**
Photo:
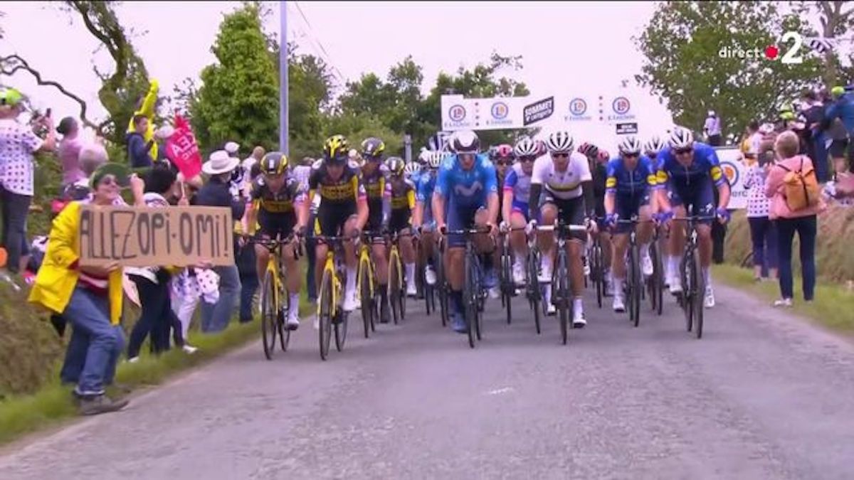
[[[284,289],[284,279],[288,277],[287,269],[282,260],[282,248],[294,241],[294,235],[290,234],[283,239],[276,238],[251,238],[249,243],[260,245],[270,252],[264,269],[264,279],[261,283],[260,310],[261,310],[261,339],[264,347],[264,356],[272,360],[276,351],[276,337],[282,351],[288,350],[290,343],[290,329],[285,326],[285,315],[290,312],[290,295]],[[299,259],[299,249],[294,249],[294,259]]]

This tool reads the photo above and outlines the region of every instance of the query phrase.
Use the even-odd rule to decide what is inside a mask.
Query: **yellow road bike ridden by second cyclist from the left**
[[[320,280],[318,292],[318,321],[320,358],[326,360],[329,356],[330,337],[335,331],[335,347],[340,352],[344,348],[347,339],[348,313],[342,308],[343,285],[346,281],[346,269],[344,268],[344,246],[343,243],[354,237],[341,236],[316,236],[319,242],[326,243],[330,249],[326,252],[326,260],[323,267],[323,275]]]

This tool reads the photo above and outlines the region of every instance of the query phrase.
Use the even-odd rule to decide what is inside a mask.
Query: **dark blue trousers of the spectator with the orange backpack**
[[[792,243],[795,232],[800,240],[801,276],[804,280],[804,300],[816,296],[816,215],[798,219],[776,220],[778,253],[780,255],[780,293],[783,298],[794,297],[792,278]]]

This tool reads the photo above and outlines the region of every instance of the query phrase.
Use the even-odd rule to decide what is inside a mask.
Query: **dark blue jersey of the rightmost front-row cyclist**
[[[715,149],[705,143],[694,142],[693,161],[683,167],[676,161],[673,149],[667,148],[658,154],[658,188],[671,184],[676,188],[701,186],[709,179],[715,186],[721,186],[727,179],[723,176],[720,161],[717,160]]]

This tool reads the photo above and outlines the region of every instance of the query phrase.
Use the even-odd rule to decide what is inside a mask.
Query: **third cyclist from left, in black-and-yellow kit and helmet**
[[[385,248],[385,239],[382,231],[385,217],[389,211],[389,202],[383,193],[389,182],[389,170],[383,163],[383,152],[385,143],[379,138],[366,138],[361,145],[360,157],[364,160],[361,164],[360,178],[365,186],[368,201],[368,223],[365,228],[374,233],[368,240],[371,242],[371,258],[377,267],[377,284],[380,292],[379,322],[389,323],[389,301],[387,298],[386,285],[389,284],[389,255]]]

